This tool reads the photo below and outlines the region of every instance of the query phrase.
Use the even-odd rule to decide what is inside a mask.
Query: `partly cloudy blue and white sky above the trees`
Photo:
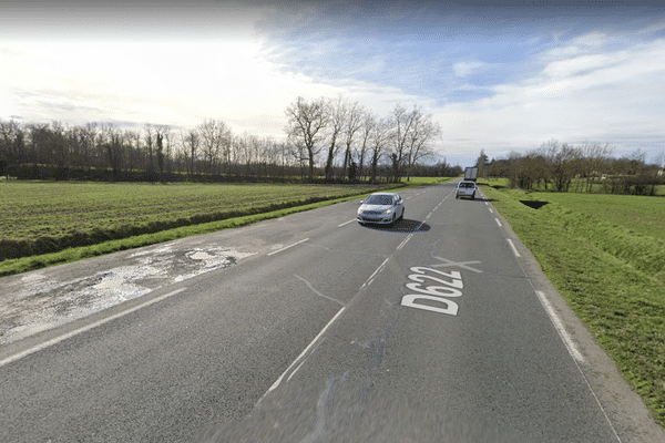
[[[544,142],[665,162],[665,0],[4,1],[0,119],[285,137],[298,96],[420,106],[452,164]]]

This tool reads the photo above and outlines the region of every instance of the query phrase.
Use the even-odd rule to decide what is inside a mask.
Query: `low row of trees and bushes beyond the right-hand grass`
[[[655,195],[656,186],[665,184],[664,161],[661,154],[661,164],[647,164],[646,153],[640,150],[617,157],[608,143],[572,145],[551,140],[490,162],[481,151],[477,166],[479,176],[505,177],[511,187],[522,189]]]

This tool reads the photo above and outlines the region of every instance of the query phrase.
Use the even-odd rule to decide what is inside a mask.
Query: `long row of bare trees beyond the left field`
[[[399,182],[415,171],[437,175],[444,169],[441,164],[430,166],[441,127],[419,106],[407,109],[398,103],[389,115],[380,117],[341,96],[298,96],[285,115],[283,140],[234,134],[226,122],[214,119],[192,128],[0,120],[0,176]]]

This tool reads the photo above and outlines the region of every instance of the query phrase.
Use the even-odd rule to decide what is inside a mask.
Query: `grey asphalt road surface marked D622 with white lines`
[[[0,279],[0,441],[665,441],[491,202],[402,197]]]

